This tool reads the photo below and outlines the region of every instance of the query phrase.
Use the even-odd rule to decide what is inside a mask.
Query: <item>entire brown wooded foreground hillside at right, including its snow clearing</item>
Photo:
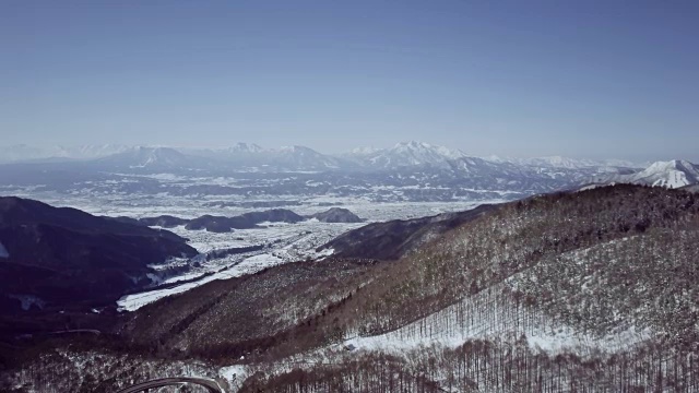
[[[454,217],[415,221],[391,247],[371,234],[401,223],[371,224],[347,250],[372,259],[212,282],[115,332],[139,352],[235,362],[222,370],[240,392],[699,386],[695,194],[618,184]],[[376,258],[384,247],[393,261]]]

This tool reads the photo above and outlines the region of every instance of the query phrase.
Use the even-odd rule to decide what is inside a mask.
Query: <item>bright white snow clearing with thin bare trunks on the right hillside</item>
[[[652,336],[649,330],[635,326],[602,336],[576,330],[512,301],[509,285],[500,284],[490,290],[464,297],[452,306],[389,333],[360,336],[356,332],[350,332],[345,337],[345,345],[400,354],[419,346],[458,347],[469,340],[497,338],[513,343],[525,337],[535,352],[557,355],[569,350],[578,355],[590,355],[595,350],[626,350]]]

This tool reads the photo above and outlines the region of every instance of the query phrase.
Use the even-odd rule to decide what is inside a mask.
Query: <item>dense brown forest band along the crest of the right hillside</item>
[[[615,186],[510,203],[377,272],[347,303],[341,324],[367,334],[392,331],[543,260],[652,229],[698,228],[699,198],[683,191]]]

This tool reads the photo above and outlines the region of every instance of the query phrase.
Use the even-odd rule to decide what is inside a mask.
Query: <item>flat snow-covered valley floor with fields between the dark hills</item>
[[[73,194],[55,192],[37,192],[21,190],[19,196],[42,200],[56,206],[69,206],[87,213],[109,216],[140,218],[155,215],[173,215],[185,218],[204,214],[235,216],[248,212],[261,211],[258,207],[241,207],[252,202],[259,204],[279,202],[274,199],[245,198],[188,198],[174,195],[149,194]],[[327,243],[343,233],[363,225],[390,219],[408,219],[448,212],[473,209],[482,203],[500,203],[503,199],[488,201],[463,202],[386,202],[372,203],[356,198],[299,198],[285,195],[282,201],[293,203],[287,206],[297,214],[311,215],[329,209],[342,206],[365,219],[364,223],[323,223],[318,219],[306,219],[296,224],[261,223],[260,228],[236,229],[230,233],[212,233],[208,230],[190,230],[185,226],[166,228],[188,239],[188,243],[201,255],[192,259],[174,259],[171,261],[154,261],[151,265],[156,274],[150,276],[154,289],[123,296],[118,301],[120,310],[135,310],[165,296],[180,294],[214,279],[239,277],[259,272],[265,267],[303,261],[307,258],[323,258],[331,250],[317,252],[319,246]],[[156,227],[157,228],[157,227]],[[259,250],[232,253],[222,258],[203,258],[206,253],[235,248],[261,247]],[[177,269],[179,267],[179,269]],[[174,273],[173,273],[174,272]]]

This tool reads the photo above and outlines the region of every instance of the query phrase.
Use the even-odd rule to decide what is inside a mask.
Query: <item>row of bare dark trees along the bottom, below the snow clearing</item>
[[[360,353],[337,364],[259,370],[240,392],[695,392],[696,353],[649,345],[616,355],[534,353],[514,343],[467,341],[454,349],[418,348],[400,357]]]

